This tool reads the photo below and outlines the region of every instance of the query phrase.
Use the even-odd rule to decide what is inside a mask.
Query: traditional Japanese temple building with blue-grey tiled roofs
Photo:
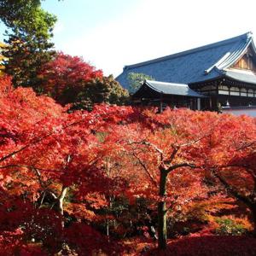
[[[129,73],[154,78],[145,80],[132,96],[137,104],[201,110],[256,106],[256,48],[251,32],[125,66],[117,80],[126,89]]]

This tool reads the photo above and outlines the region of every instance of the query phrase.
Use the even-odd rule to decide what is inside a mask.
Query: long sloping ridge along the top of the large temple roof
[[[204,50],[204,49],[211,49],[212,47],[217,46],[217,45],[221,46],[221,45],[224,45],[224,44],[230,44],[231,42],[235,42],[235,41],[238,41],[238,40],[244,40],[244,39],[248,40],[249,38],[252,38],[252,37],[253,37],[252,32],[246,32],[246,33],[241,34],[240,36],[236,36],[234,38],[227,38],[227,39],[224,39],[222,41],[218,41],[218,42],[215,42],[215,43],[212,43],[212,44],[206,44],[206,45],[202,45],[202,46],[199,46],[199,47],[196,47],[196,48],[193,48],[193,49],[183,50],[181,52],[174,53],[172,55],[166,55],[166,56],[162,56],[160,58],[152,59],[152,60],[149,60],[149,61],[143,61],[143,62],[139,62],[137,64],[127,65],[127,66],[124,67],[124,71],[126,69],[130,69],[130,68],[133,68],[133,67],[140,67],[140,66],[151,64],[151,63],[154,63],[154,62],[166,61],[166,60],[169,60],[171,58],[180,57],[181,55],[189,55],[189,54],[192,54],[192,53],[195,53],[197,51]]]

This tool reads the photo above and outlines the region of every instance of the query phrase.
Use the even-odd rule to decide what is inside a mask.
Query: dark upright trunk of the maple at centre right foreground
[[[168,172],[160,169],[160,202],[158,203],[158,247],[165,250],[167,246],[167,225],[166,225],[166,180]]]

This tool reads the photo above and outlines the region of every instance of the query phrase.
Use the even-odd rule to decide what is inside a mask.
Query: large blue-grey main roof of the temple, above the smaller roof
[[[215,79],[223,76],[224,68],[234,64],[250,44],[255,49],[252,33],[247,32],[236,38],[125,66],[116,79],[127,89],[128,73],[144,73],[155,80],[177,84]]]

